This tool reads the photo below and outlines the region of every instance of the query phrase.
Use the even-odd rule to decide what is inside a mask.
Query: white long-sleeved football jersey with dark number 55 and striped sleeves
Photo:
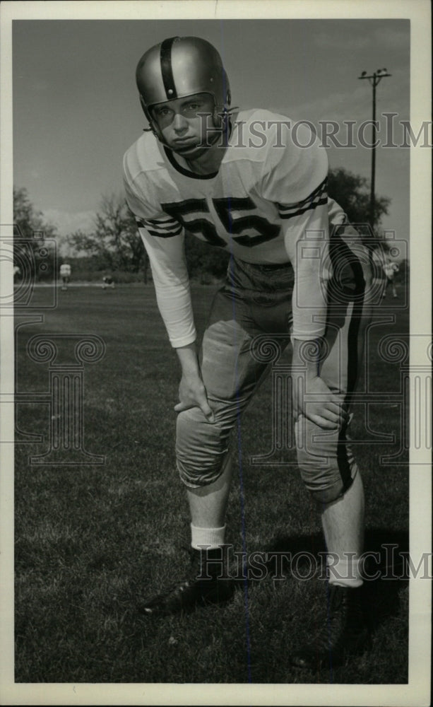
[[[279,134],[277,123],[284,123]],[[326,308],[320,279],[328,243],[328,159],[309,127],[298,125],[292,135],[289,126],[290,119],[267,110],[240,111],[220,168],[211,175],[191,173],[148,132],[126,152],[126,199],[173,346],[195,339],[185,230],[246,262],[291,262],[301,295],[293,298],[293,336],[323,334],[318,322]],[[342,223],[343,211],[333,204],[333,223]]]

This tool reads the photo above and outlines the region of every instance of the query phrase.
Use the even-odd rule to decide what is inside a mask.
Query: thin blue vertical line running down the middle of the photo
[[[220,21],[221,29],[221,56],[223,58],[223,65],[225,65],[225,52],[224,52],[224,32],[223,32],[223,21]],[[224,81],[223,76],[223,81]],[[223,86],[224,95],[226,92],[226,86]],[[227,131],[228,133],[228,131]],[[228,135],[227,135],[228,136]],[[229,233],[230,233],[230,262],[229,268],[232,271],[232,264],[234,262],[233,250],[232,250],[232,218],[231,218],[231,208],[230,208],[230,197],[227,198],[228,201],[228,214],[229,214]],[[234,286],[231,284],[232,288],[232,312],[233,319],[236,321],[236,300],[234,293]],[[235,329],[235,345],[236,345],[236,329]],[[236,401],[237,401],[237,450],[239,456],[239,491],[241,498],[241,532],[242,532],[242,554],[247,558],[247,539],[245,537],[245,501],[244,501],[244,476],[242,469],[242,436],[241,436],[241,411],[239,407],[239,385],[238,385],[238,368],[237,359],[235,361],[235,387],[236,387]],[[242,570],[244,569],[244,563],[242,561]],[[243,574],[243,572],[242,572]],[[247,670],[248,670],[248,682],[252,682],[251,677],[251,641],[249,633],[249,602],[248,602],[248,578],[247,573],[244,576],[244,609],[245,609],[245,631],[247,634]]]

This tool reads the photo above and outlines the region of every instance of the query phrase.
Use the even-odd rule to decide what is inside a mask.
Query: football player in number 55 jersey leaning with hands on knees
[[[368,257],[328,199],[326,152],[306,124],[230,108],[220,55],[198,37],[148,49],[136,69],[150,130],[124,156],[126,198],[148,252],[160,313],[182,368],[176,454],[191,513],[195,570],[150,597],[150,616],[226,602],[220,578],[230,489],[230,431],[266,363],[254,346],[292,346],[297,461],[321,513],[331,619],[292,655],[335,665],[364,648],[361,608],[364,495],[348,448],[350,397],[367,322]],[[258,137],[259,136],[259,137]],[[330,236],[330,224],[332,234]],[[201,351],[184,233],[230,253]]]

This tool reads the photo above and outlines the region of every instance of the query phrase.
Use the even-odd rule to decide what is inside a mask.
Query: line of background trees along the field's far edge
[[[330,170],[328,194],[340,204],[351,223],[369,221],[369,182],[366,178],[343,168]],[[380,243],[381,218],[388,214],[390,204],[391,199],[388,197],[375,198],[374,240],[371,237],[367,238],[366,245],[369,247],[376,247]],[[54,253],[49,249],[47,240],[45,243],[49,252],[48,255],[44,255],[45,268],[40,268],[41,234],[43,233],[48,240],[56,238],[57,229],[47,223],[43,214],[35,209],[24,188],[13,190],[13,211],[16,233],[14,264],[18,264],[19,267],[19,262],[24,257],[23,248],[28,250],[30,243],[33,252],[32,264],[30,264],[32,274],[37,280],[52,279],[56,264]],[[367,230],[364,233],[367,233]],[[24,245],[25,240],[27,240],[26,245]],[[134,279],[147,281],[148,279],[149,264],[146,250],[138,235],[134,215],[129,211],[123,195],[110,194],[102,197],[90,233],[76,230],[67,234],[66,242],[74,255],[60,261],[67,260],[73,264],[73,274],[77,279],[80,279],[80,271],[88,276],[92,274],[93,277],[102,277],[103,274],[109,273],[123,281]],[[185,253],[192,278],[211,282],[224,275],[229,258],[227,252],[208,247],[203,241],[186,233]]]

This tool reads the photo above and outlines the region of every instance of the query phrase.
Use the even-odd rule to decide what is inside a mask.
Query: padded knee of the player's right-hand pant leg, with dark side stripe
[[[297,462],[302,481],[317,503],[343,496],[357,473],[345,430],[323,430],[299,416],[295,425]]]

